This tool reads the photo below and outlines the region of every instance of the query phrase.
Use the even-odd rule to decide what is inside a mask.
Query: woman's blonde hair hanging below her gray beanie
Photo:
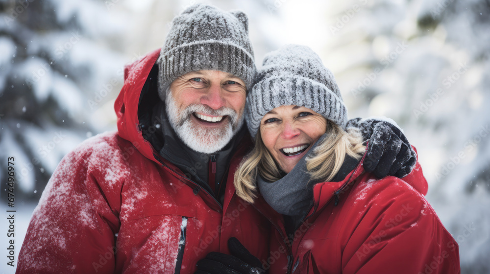
[[[346,132],[327,120],[326,134],[327,137],[315,148],[313,157],[306,159],[306,168],[310,172],[311,180],[317,182],[326,182],[334,178],[343,164],[345,154],[359,160],[366,149],[363,137],[356,128],[349,128]],[[281,170],[262,142],[260,129],[255,137],[255,147],[235,172],[234,184],[237,195],[249,203],[253,203],[257,197],[257,175],[268,182],[275,182],[281,178]]]

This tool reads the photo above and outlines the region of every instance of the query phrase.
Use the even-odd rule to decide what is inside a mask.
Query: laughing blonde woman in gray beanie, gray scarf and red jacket
[[[460,273],[458,245],[423,197],[420,165],[403,179],[365,172],[366,145],[346,128],[341,93],[319,56],[290,45],[263,65],[246,105],[255,147],[235,188],[272,223],[270,258],[258,263],[236,240],[230,251],[257,273]]]

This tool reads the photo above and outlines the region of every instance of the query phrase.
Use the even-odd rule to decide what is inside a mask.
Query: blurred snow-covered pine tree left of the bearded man
[[[36,203],[61,158],[114,119],[117,16],[103,1],[0,1],[0,158],[15,158],[17,201]]]

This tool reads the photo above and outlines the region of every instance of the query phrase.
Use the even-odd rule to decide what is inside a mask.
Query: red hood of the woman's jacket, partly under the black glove
[[[415,147],[414,150],[417,153],[417,149]],[[345,176],[345,178],[342,181],[322,182],[322,183],[315,184],[313,188],[313,198],[315,200],[315,206],[314,208],[312,208],[312,210],[316,210],[317,208],[321,208],[322,206],[325,206],[335,196],[336,199],[341,199],[341,195],[348,190],[350,183],[353,183],[355,180],[360,179],[361,175],[365,173],[363,161],[366,157],[366,154],[367,153],[364,154],[363,158],[359,161],[359,164],[354,168],[354,170],[352,170],[349,174],[347,174],[347,176]],[[389,178],[389,177],[394,178],[392,176],[387,176],[385,178]],[[373,181],[372,183],[375,183],[374,181],[376,180],[385,180],[385,178],[378,179],[372,174],[368,174],[367,178],[368,178],[368,183],[371,180]],[[425,177],[422,174],[422,168],[420,167],[420,163],[418,163],[418,161],[415,168],[412,170],[412,172],[409,175],[399,180],[408,183],[410,186],[416,189],[420,194],[424,196],[425,194],[427,194],[427,189],[428,189],[427,180],[425,180]]]

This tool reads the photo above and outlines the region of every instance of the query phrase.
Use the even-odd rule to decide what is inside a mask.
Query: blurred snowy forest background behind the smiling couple
[[[173,16],[197,2],[0,0],[0,227],[15,157],[16,256],[61,158],[116,129],[124,64],[162,46]],[[334,72],[349,118],[394,119],[418,149],[462,273],[490,273],[489,0],[206,2],[245,11],[259,67],[284,44],[310,46]],[[14,273],[2,235],[0,269]]]

